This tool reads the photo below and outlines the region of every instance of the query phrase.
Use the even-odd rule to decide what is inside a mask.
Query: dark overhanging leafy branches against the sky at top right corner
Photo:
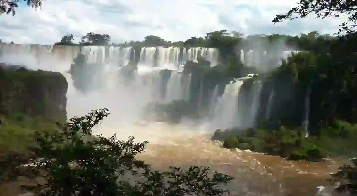
[[[286,14],[277,15],[272,22],[280,22],[286,20],[293,20],[296,18],[306,17],[311,13],[317,14],[316,18],[325,17],[339,17],[340,15],[346,15],[347,21],[343,22],[340,26],[338,33],[353,32],[352,28],[357,26],[357,1],[355,0],[300,0],[297,7],[291,8]]]

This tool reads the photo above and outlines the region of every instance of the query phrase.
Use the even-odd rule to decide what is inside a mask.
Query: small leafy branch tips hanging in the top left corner
[[[3,13],[10,14],[15,16],[15,8],[19,7],[18,3],[21,0],[0,0],[0,15]],[[27,6],[34,7],[35,9],[41,8],[43,0],[23,0],[26,2]]]

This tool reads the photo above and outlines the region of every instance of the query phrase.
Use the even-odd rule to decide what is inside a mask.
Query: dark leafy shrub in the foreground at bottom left
[[[32,182],[41,179],[42,184],[25,188],[44,195],[213,196],[228,192],[218,185],[232,177],[214,172],[210,178],[206,167],[152,171],[150,165],[135,159],[136,154],[144,151],[147,141],[134,143],[132,137],[122,141],[116,134],[111,138],[92,136],[91,129],[107,115],[107,108],[95,110],[69,119],[62,132],[36,133],[37,145],[28,154],[11,153],[0,160],[0,182],[18,176]],[[22,166],[27,163],[32,166]],[[132,184],[123,180],[124,174],[132,174],[137,181]]]

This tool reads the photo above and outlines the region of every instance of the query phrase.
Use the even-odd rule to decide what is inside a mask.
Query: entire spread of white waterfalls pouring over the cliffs
[[[115,110],[114,113],[117,113],[117,115],[112,115],[113,118],[119,119],[135,119],[135,115],[141,111],[140,107],[152,101],[164,103],[172,100],[189,101],[192,78],[191,74],[182,73],[183,62],[186,60],[197,62],[198,57],[204,57],[211,62],[211,66],[215,66],[219,56],[217,49],[204,47],[144,47],[141,48],[140,55],[138,54],[139,59],[135,56],[138,51],[132,51],[131,47],[1,44],[0,49],[2,50],[0,62],[25,65],[31,69],[61,72],[67,77],[70,89],[76,89],[72,86],[72,78],[69,78],[74,76],[67,74],[70,65],[79,54],[85,55],[88,67],[81,68],[87,71],[80,72],[80,77],[83,80],[82,83],[88,86],[89,92],[86,95],[79,95],[75,90],[67,93],[68,115],[82,115],[82,111],[108,107],[112,112]],[[242,60],[247,60],[247,63],[253,62],[254,54],[254,51],[242,52]],[[263,55],[267,53],[263,52]],[[127,67],[133,59],[137,62],[135,71]],[[171,76],[165,84],[162,83],[160,75],[163,69],[171,71]],[[218,97],[218,86],[213,89],[208,109],[212,123],[216,124],[217,128],[240,125],[237,123],[237,110],[240,107],[237,99],[242,83],[242,81],[237,81],[227,84],[221,97]],[[97,87],[94,88],[94,86]],[[160,95],[162,88],[166,90],[165,95]],[[250,124],[255,123],[260,89],[261,83],[254,82],[252,95],[250,95],[252,97],[251,111],[247,114],[252,119]],[[199,91],[198,104],[201,106],[203,104],[202,81]],[[268,101],[267,118],[270,116],[273,94],[272,91]],[[96,104],[92,105],[92,103]],[[84,109],[84,107],[87,108]]]

